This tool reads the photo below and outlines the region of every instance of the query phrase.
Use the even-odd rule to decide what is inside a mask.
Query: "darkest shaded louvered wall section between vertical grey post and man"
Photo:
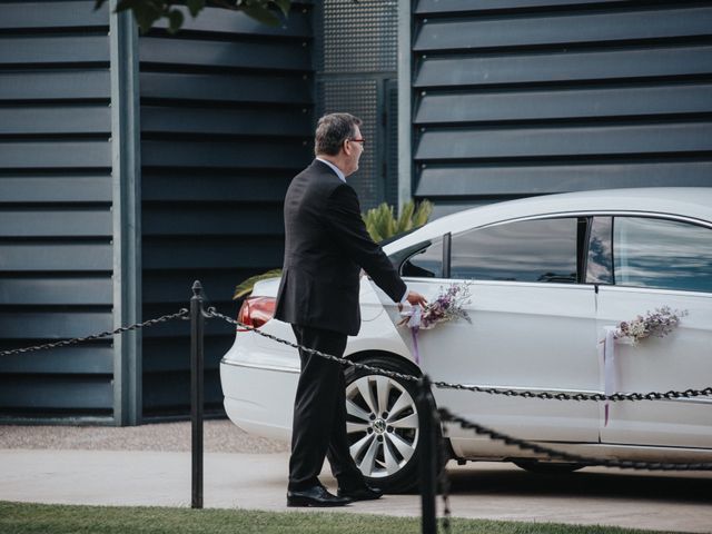
[[[301,2],[286,28],[208,8],[176,37],[139,38],[144,317],[185,307],[195,279],[234,315],[235,286],[281,266],[284,194],[312,159],[312,43]],[[209,411],[233,332],[207,324]],[[186,325],[146,330],[142,354],[144,417],[187,414]]]

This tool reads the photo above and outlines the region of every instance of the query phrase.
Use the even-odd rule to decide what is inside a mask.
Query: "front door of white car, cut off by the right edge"
[[[702,389],[712,385],[712,228],[670,217],[597,217],[597,328],[668,306],[686,313],[665,337],[636,346],[615,343],[619,392]],[[591,273],[591,266],[597,274]],[[596,281],[596,280],[592,280]],[[604,372],[602,369],[602,376]],[[610,403],[601,439],[607,444],[712,448],[712,398]]]

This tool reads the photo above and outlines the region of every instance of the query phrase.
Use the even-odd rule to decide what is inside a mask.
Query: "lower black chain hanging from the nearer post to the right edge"
[[[621,469],[645,469],[645,471],[712,471],[712,463],[698,462],[698,463],[665,463],[665,462],[632,462],[627,459],[597,459],[589,458],[586,456],[580,456],[577,454],[564,453],[563,451],[556,451],[554,448],[545,447],[543,445],[536,445],[525,439],[512,437],[507,434],[493,431],[486,426],[478,425],[471,421],[465,419],[451,413],[447,408],[438,408],[441,421],[446,423],[457,423],[462,428],[474,431],[476,434],[488,436],[492,439],[504,442],[506,445],[513,445],[522,451],[530,451],[537,454],[544,454],[553,459],[561,459],[564,462],[572,462],[581,464],[583,466],[600,465],[603,467],[619,467]]]

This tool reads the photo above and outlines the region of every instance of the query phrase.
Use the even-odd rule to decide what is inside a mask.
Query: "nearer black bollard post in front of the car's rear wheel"
[[[435,424],[437,423],[437,417],[435,398],[431,393],[431,380],[427,375],[418,380],[416,405],[421,419],[418,456],[421,458],[422,532],[423,534],[436,534],[435,485],[437,483],[437,448]]]

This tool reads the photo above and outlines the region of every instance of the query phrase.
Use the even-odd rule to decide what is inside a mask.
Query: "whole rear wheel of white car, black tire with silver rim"
[[[394,357],[369,356],[359,363],[413,374]],[[348,367],[345,376],[346,433],[352,457],[366,483],[386,493],[412,490],[418,483],[416,383],[355,367]]]

